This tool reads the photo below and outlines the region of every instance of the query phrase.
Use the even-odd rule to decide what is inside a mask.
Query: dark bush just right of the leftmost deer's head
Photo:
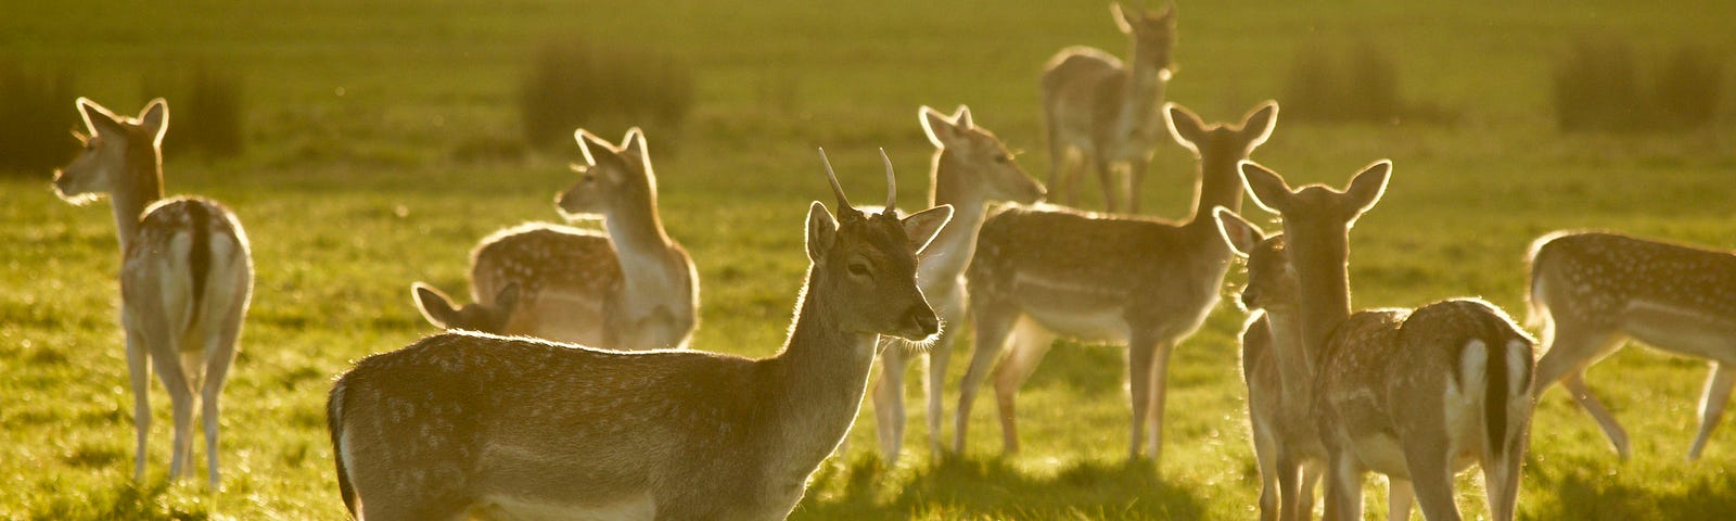
[[[181,76],[148,73],[141,83],[146,99],[168,101],[170,130],[163,135],[163,155],[241,155],[247,132],[240,76],[194,64]]]

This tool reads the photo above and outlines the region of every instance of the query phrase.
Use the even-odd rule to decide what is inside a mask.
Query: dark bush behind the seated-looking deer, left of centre
[[[524,141],[533,146],[571,144],[578,127],[620,135],[637,125],[653,135],[672,135],[691,106],[693,69],[686,63],[663,52],[585,40],[538,47],[519,90]]]

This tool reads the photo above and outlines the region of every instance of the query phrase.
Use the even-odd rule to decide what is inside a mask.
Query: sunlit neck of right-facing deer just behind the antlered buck
[[[962,274],[965,266],[970,264],[977,233],[983,231],[983,210],[988,207],[988,189],[969,182],[963,179],[965,175],[957,175],[951,168],[965,167],[951,165],[944,153],[936,156],[934,179],[930,181],[934,188],[929,191],[929,207],[953,205],[953,221],[948,221],[934,240],[929,241],[922,262],[924,280]]]

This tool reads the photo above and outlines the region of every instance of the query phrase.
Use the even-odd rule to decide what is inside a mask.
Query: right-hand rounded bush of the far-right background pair
[[[1684,45],[1663,63],[1651,99],[1663,129],[1705,127],[1717,115],[1724,90],[1724,63],[1712,52]]]

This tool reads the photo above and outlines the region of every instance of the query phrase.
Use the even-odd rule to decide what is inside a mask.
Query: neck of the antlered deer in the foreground
[[[809,269],[790,340],[769,361],[774,382],[767,441],[800,472],[811,472],[849,432],[868,391],[878,339],[840,328],[825,288],[826,281]]]

